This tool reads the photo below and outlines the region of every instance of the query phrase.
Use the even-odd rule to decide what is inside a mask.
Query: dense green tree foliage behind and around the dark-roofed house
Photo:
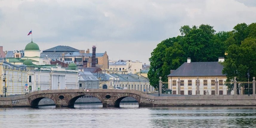
[[[186,58],[194,62],[211,62],[224,56],[223,74],[226,74],[227,81],[234,76],[245,80],[248,70],[250,76],[256,75],[256,23],[237,24],[232,31],[218,33],[209,24],[199,27],[184,25],[180,32],[181,36],[161,41],[151,53],[148,77],[155,88],[158,88],[159,76],[162,81],[167,81],[170,70],[176,70]]]

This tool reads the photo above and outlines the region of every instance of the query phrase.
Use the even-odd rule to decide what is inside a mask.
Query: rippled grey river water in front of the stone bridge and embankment
[[[169,128],[256,127],[256,107],[138,107],[75,104],[75,108],[44,106],[0,108],[1,128]]]

